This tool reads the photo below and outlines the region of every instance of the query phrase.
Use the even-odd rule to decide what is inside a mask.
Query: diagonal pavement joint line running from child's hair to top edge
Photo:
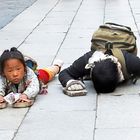
[[[24,40],[17,46],[17,48],[20,48],[20,46],[26,41],[26,39],[34,32],[34,30],[46,19],[46,17],[48,16],[48,14],[59,4],[61,0],[58,0],[53,6],[52,8],[50,8],[50,10],[45,14],[44,18],[42,18],[42,20],[32,29],[32,31],[24,38]]]

